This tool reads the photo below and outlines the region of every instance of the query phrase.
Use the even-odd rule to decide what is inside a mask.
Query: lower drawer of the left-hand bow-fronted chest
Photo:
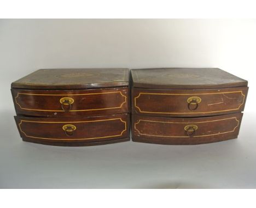
[[[82,118],[14,118],[20,136],[27,142],[86,146],[130,140],[129,114]]]

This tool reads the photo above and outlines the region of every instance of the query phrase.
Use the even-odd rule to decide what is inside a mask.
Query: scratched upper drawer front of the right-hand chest
[[[243,111],[248,87],[205,90],[132,89],[133,112],[160,117],[200,117]]]

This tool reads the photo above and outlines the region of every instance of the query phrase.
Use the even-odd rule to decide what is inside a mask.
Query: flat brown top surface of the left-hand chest
[[[129,70],[120,69],[40,69],[11,84],[25,89],[91,89],[127,86]]]

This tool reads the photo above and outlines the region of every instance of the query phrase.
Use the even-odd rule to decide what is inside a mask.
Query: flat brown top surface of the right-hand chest
[[[133,87],[207,89],[247,86],[247,81],[218,68],[132,69]]]

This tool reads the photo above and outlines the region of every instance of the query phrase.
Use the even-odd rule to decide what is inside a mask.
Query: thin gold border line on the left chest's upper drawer
[[[64,112],[63,110],[46,110],[46,109],[32,109],[32,108],[22,108],[21,105],[18,103],[17,98],[19,95],[42,95],[42,96],[76,96],[76,95],[95,95],[95,94],[111,94],[111,93],[120,93],[121,96],[125,97],[125,101],[121,103],[119,107],[111,107],[111,108],[96,108],[96,109],[84,109],[84,110],[71,110],[69,112],[77,112],[77,111],[99,111],[99,110],[105,110],[105,109],[115,109],[115,108],[121,108],[124,103],[127,101],[127,96],[123,95],[121,91],[113,91],[113,92],[106,92],[106,93],[87,93],[87,94],[33,94],[33,93],[18,93],[15,97],[16,104],[23,110],[26,111],[54,111],[54,112]]]

